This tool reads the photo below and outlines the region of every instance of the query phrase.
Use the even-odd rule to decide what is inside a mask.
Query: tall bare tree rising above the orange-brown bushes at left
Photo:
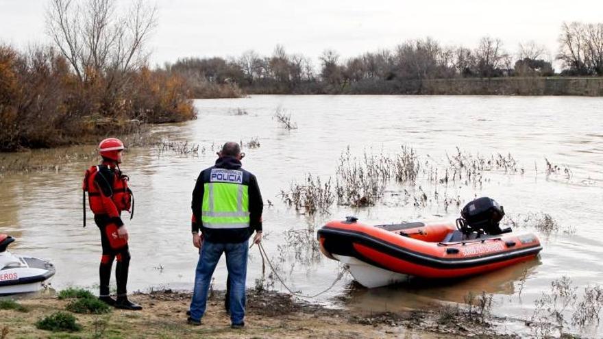
[[[119,90],[127,73],[147,63],[145,43],[157,25],[157,9],[136,0],[125,15],[116,0],[50,0],[47,33],[81,81],[108,77]]]

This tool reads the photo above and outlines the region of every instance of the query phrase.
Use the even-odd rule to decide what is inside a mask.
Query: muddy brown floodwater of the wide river
[[[197,155],[156,147],[127,151],[123,171],[130,175],[136,212],[127,220],[131,235],[130,290],[192,286],[197,252],[190,239],[190,193],[201,171],[213,164],[225,140],[248,142],[245,168],[255,173],[266,203],[264,247],[287,284],[306,294],[332,283],[339,266],[317,251],[315,230],[325,221],[358,216],[361,222],[454,220],[460,207],[431,201],[416,207],[400,198],[409,186],[392,184],[384,199],[371,208],[332,207],[330,214],[304,216],[278,197],[293,180],[308,173],[335,177],[341,152],[393,154],[401,145],[419,157],[445,166],[446,156],[460,147],[466,153],[510,153],[524,173],[484,173],[481,186],[451,183],[434,186],[423,179],[417,186],[440,197],[475,196],[499,201],[508,214],[550,214],[561,228],[544,234],[528,222],[527,231],[539,234],[543,251],[538,260],[460,281],[410,281],[408,284],[367,290],[346,275],[319,301],[378,312],[432,307],[439,301],[462,302],[467,292],[494,294],[494,313],[529,318],[534,301],[550,282],[571,277],[578,294],[603,281],[603,99],[582,97],[397,97],[397,96],[252,96],[245,99],[197,100],[196,121],[156,127],[170,140],[199,144]],[[297,129],[286,130],[273,118],[276,108],[291,114]],[[247,114],[237,115],[238,109]],[[90,147],[57,149],[68,154]],[[49,151],[3,155],[49,157]],[[571,170],[545,173],[545,157]],[[51,157],[49,157],[51,158]],[[99,231],[88,213],[82,228],[82,174],[90,161],[60,164],[58,171],[4,174],[0,178],[0,232],[12,234],[15,253],[48,258],[56,264],[54,288],[95,287],[100,257]],[[432,194],[429,194],[430,197]],[[269,206],[267,201],[273,204]],[[521,216],[519,216],[521,218]],[[306,231],[306,230],[310,231]],[[563,230],[569,229],[569,234]],[[571,230],[574,231],[571,231]],[[518,231],[519,231],[518,230]],[[251,249],[248,286],[262,275],[257,249]],[[527,272],[527,273],[524,273]],[[216,288],[225,286],[225,263],[215,273]],[[524,279],[525,277],[525,279]],[[523,282],[525,281],[525,282]],[[267,279],[268,283],[272,279]],[[276,281],[276,290],[284,290]],[[519,296],[521,290],[521,296]],[[345,297],[345,301],[340,301]],[[590,334],[602,334],[591,328]]]

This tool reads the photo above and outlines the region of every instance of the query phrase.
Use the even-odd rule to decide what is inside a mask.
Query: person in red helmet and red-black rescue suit
[[[134,212],[132,190],[128,188],[127,175],[121,173],[123,142],[107,138],[99,144],[101,164],[91,166],[84,177],[84,194],[88,192],[90,210],[95,214],[95,223],[101,231],[102,256],[99,266],[99,299],[108,305],[124,310],[142,310],[143,307],[127,299],[127,275],[130,268],[128,232],[121,220],[121,212]],[[85,205],[85,201],[84,201]],[[132,210],[131,210],[132,208]],[[86,226],[84,206],[84,227]],[[117,299],[110,296],[109,281],[113,261],[117,283]]]

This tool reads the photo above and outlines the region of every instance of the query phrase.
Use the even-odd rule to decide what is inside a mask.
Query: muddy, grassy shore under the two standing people
[[[140,312],[112,310],[109,314],[73,314],[82,331],[64,333],[37,329],[36,321],[64,311],[66,300],[45,292],[20,297],[27,312],[0,310],[1,338],[517,338],[497,334],[489,323],[463,312],[447,311],[361,313],[331,309],[273,291],[248,290],[246,327],[230,329],[223,291],[213,291],[203,325],[186,324],[190,292],[137,292],[131,299]],[[443,313],[444,312],[444,313]]]

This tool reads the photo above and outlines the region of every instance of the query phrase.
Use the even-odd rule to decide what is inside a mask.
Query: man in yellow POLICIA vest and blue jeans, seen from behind
[[[254,231],[254,243],[262,239],[264,203],[256,176],[241,168],[241,146],[226,142],[218,155],[214,166],[201,171],[193,190],[193,245],[201,253],[188,323],[201,325],[214,269],[226,253],[231,327],[243,328],[248,242]]]

